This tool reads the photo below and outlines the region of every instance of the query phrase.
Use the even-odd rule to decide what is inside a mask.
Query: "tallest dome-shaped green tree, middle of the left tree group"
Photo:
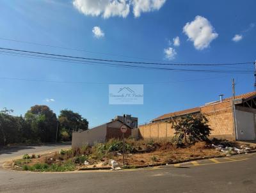
[[[25,114],[25,120],[30,125],[33,141],[42,142],[56,140],[56,114],[46,105],[35,105]]]

